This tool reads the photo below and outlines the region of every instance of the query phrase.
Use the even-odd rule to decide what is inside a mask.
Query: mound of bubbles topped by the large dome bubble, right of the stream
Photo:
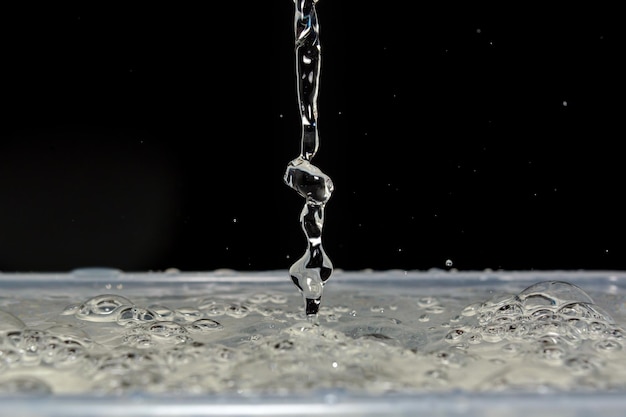
[[[624,347],[624,330],[570,283],[540,282],[470,304],[448,325],[449,348],[435,352],[442,363],[468,365],[482,357],[497,365],[479,388],[623,387],[612,381],[623,379],[612,364]]]

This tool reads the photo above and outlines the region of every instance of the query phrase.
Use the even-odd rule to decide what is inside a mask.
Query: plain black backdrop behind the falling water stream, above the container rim
[[[617,6],[418,3],[317,5],[335,267],[626,269]],[[0,8],[0,271],[302,254],[291,1]]]

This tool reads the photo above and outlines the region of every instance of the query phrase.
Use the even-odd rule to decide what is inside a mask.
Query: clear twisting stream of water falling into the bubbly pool
[[[322,247],[324,207],[333,192],[333,182],[311,163],[319,147],[317,98],[319,92],[321,47],[317,0],[294,0],[295,56],[298,103],[302,120],[300,155],[291,161],[284,181],[305,198],[300,214],[307,249],[289,269],[292,281],[304,297],[306,315],[317,319],[324,283],[333,265]]]

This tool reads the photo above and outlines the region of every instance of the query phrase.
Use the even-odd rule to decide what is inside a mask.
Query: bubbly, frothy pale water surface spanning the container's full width
[[[317,325],[282,286],[138,294],[0,297],[0,393],[626,389],[624,311],[616,321],[602,307],[623,309],[624,296],[597,302],[563,281],[512,293],[337,288]]]

